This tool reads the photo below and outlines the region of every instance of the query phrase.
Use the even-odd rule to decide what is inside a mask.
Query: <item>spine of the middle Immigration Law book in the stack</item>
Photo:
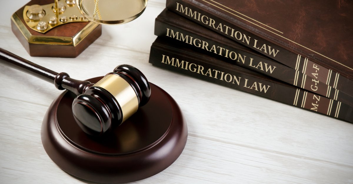
[[[195,33],[195,30],[189,29],[189,31],[187,31],[185,28],[181,27],[181,25],[174,26],[172,24],[173,23],[169,22],[165,23],[165,21],[160,19],[160,16],[158,16],[155,22],[155,34],[167,39],[174,39],[180,44],[184,44],[192,49],[197,49],[198,51],[222,59],[222,61],[274,77],[283,82],[293,84],[299,88],[303,88],[312,91],[313,93],[326,96],[330,99],[346,103],[349,106],[353,106],[352,96],[345,93],[339,93],[339,90],[331,88],[315,78],[307,76],[271,59],[259,57],[251,52],[223,44],[219,41],[220,39],[217,41],[217,38],[210,37],[210,34],[208,34],[208,37],[201,36],[202,33],[197,34]]]

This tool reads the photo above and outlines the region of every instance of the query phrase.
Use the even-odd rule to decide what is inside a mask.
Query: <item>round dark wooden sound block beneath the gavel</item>
[[[71,109],[75,95],[62,93],[42,124],[42,143],[49,157],[71,175],[100,183],[132,182],[166,169],[185,147],[187,126],[173,98],[150,86],[150,101],[99,138],[78,127]]]

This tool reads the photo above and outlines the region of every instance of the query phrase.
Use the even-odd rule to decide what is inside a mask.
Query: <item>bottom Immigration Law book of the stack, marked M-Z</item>
[[[267,97],[312,112],[353,122],[353,108],[243,67],[196,52],[174,40],[158,37],[151,46],[149,62],[163,69]]]

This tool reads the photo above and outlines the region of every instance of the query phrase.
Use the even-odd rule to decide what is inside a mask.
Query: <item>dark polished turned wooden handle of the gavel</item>
[[[60,90],[70,90],[76,95],[84,93],[93,85],[88,81],[74,80],[65,72],[58,73],[49,70],[2,48],[0,48],[0,63],[50,82]]]

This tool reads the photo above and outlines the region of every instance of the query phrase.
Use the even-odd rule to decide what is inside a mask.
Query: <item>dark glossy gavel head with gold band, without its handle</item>
[[[150,96],[150,85],[142,72],[130,65],[119,65],[78,95],[72,112],[85,133],[99,136],[124,122]]]

